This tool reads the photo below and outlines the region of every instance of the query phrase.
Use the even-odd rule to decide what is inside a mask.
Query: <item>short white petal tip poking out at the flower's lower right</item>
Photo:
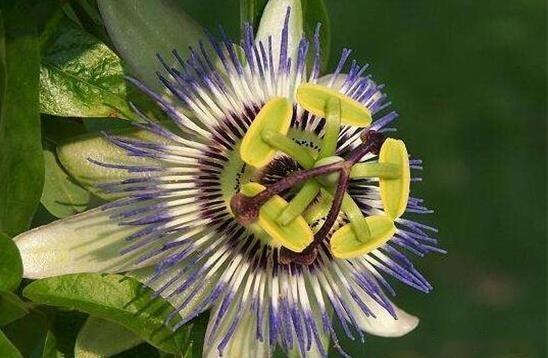
[[[369,334],[380,337],[401,337],[414,330],[419,319],[394,306],[396,316],[394,319],[383,307],[371,298],[364,298],[364,302],[373,311],[375,318],[359,315],[358,325]],[[356,307],[359,310],[359,308]]]

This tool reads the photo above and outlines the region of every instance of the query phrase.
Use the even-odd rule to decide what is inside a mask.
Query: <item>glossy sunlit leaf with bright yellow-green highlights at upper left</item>
[[[120,58],[63,19],[45,46],[40,111],[57,116],[132,118]]]

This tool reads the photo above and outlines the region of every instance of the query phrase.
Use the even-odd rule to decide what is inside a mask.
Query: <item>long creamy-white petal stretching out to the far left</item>
[[[17,236],[23,275],[43,278],[80,272],[120,272],[135,268],[120,255],[135,226],[119,226],[101,208],[88,210]]]

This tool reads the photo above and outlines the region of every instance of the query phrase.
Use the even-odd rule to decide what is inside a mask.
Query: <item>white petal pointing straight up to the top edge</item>
[[[272,36],[272,55],[276,64],[280,58],[282,30],[288,7],[291,8],[291,15],[289,17],[287,53],[288,57],[296,59],[299,41],[303,35],[303,11],[300,0],[270,0],[265,6],[257,30],[256,42],[262,41],[265,46],[268,46],[268,37]]]

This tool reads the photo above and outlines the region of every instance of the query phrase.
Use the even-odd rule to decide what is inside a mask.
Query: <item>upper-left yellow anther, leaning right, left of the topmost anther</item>
[[[247,164],[260,168],[270,162],[276,148],[262,138],[265,130],[287,134],[293,116],[293,105],[287,98],[276,97],[268,101],[259,111],[247,130],[240,145],[240,157]]]

